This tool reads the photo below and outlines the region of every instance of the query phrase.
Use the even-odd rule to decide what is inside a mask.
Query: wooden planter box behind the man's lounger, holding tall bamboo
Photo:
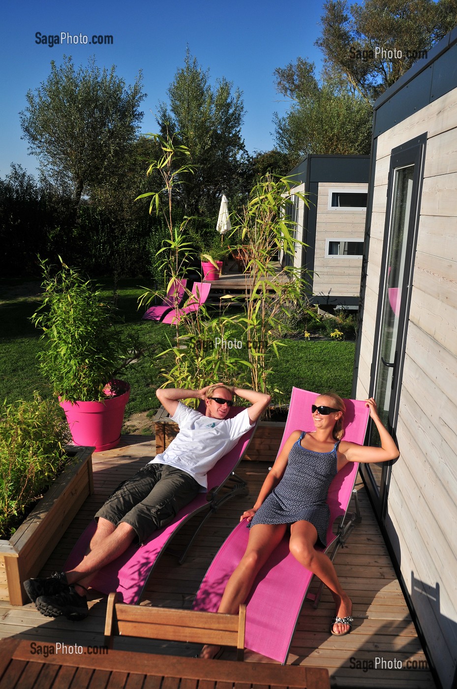
[[[158,455],[178,435],[179,428],[178,424],[168,418],[163,407],[160,407],[154,420],[156,422],[156,455]],[[284,421],[260,421],[244,454],[244,459],[273,463],[281,444],[285,426],[286,422]]]

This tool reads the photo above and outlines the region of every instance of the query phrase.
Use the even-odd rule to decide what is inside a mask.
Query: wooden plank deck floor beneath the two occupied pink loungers
[[[62,568],[78,535],[92,519],[96,508],[120,481],[146,464],[154,454],[153,438],[131,435],[123,439],[122,446],[94,455],[95,493],[86,500],[52,553],[43,569],[43,575]],[[183,565],[178,565],[173,555],[165,553],[149,579],[142,604],[191,607],[206,568],[226,535],[237,523],[240,513],[246,506],[251,506],[266,471],[266,462],[242,462],[238,473],[248,481],[252,497],[235,497],[222,506],[220,512],[213,515],[202,528]],[[330,593],[324,589],[317,610],[308,601],[303,606],[288,664],[328,668],[332,687],[433,688],[435,684],[432,675],[427,670],[425,655],[368,497],[363,484],[358,487],[362,523],[355,528],[348,546],[340,550],[335,559],[341,584],[348,590],[354,604],[354,628],[350,635],[343,638],[330,635],[334,606]],[[193,517],[184,525],[173,539],[173,548],[179,551],[200,518]],[[106,598],[94,595],[89,607],[91,613],[87,619],[72,623],[66,619],[43,617],[32,604],[14,607],[0,603],[0,637],[30,639],[41,646],[52,642],[102,646]],[[196,646],[190,644],[122,637],[116,639],[115,648],[183,656],[194,655],[197,650]],[[234,653],[224,653],[224,659],[234,658]],[[247,650],[246,661],[266,662],[269,659]],[[400,664],[403,667],[398,669]],[[396,666],[397,669],[389,669],[389,665]]]

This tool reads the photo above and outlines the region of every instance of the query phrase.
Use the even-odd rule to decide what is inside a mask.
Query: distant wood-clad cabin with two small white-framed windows
[[[295,266],[309,271],[315,304],[357,308],[369,169],[370,156],[309,154],[288,174],[295,236],[306,245]],[[309,207],[294,192],[306,194]]]

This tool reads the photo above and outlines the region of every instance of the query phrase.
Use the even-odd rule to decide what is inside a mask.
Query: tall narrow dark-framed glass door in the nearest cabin
[[[425,136],[425,135],[423,135]],[[422,137],[421,137],[422,138]],[[374,377],[370,384],[383,424],[395,438],[401,374],[410,305],[416,229],[426,138],[413,146],[392,151],[379,302],[375,333]],[[370,425],[369,444],[379,445],[379,435]],[[390,463],[362,464],[362,473],[383,518],[387,500]]]

